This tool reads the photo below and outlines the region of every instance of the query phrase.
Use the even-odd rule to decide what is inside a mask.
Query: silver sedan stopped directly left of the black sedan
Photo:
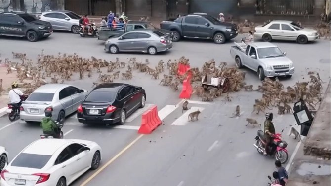
[[[26,122],[40,122],[45,110],[53,111],[53,119],[63,122],[76,112],[87,91],[66,84],[46,84],[29,95],[20,108],[20,118]]]

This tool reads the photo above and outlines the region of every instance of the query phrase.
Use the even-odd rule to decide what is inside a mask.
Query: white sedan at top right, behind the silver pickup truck
[[[303,28],[292,21],[271,21],[266,25],[255,27],[255,37],[270,42],[271,40],[297,41],[306,44],[319,38],[319,34],[314,29]]]

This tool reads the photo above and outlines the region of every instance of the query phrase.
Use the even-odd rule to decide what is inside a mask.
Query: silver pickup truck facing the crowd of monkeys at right
[[[277,76],[291,78],[294,74],[293,62],[276,45],[267,42],[235,44],[230,53],[236,61],[236,67],[248,67],[257,72],[260,80]]]

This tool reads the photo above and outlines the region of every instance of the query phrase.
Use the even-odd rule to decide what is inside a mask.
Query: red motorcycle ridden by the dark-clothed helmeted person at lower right
[[[282,133],[272,135],[273,143],[268,146],[267,155],[274,155],[276,160],[279,160],[282,164],[288,161],[289,155],[286,147],[288,143],[282,140]],[[257,131],[257,136],[255,137],[256,144],[254,147],[257,149],[257,152],[263,154],[266,140],[264,138],[264,132],[262,130]]]

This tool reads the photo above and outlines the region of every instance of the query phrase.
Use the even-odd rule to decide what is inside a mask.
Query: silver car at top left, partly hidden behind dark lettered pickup
[[[72,11],[63,10],[42,12],[39,18],[42,21],[48,21],[52,24],[54,30],[78,33],[80,28],[79,19],[81,19],[81,17]]]

